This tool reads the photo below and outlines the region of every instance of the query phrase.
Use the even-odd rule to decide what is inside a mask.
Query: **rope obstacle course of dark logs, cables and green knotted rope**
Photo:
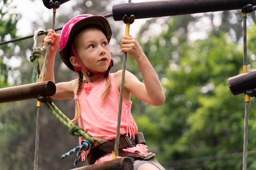
[[[60,4],[63,4],[69,0],[43,0],[44,4],[47,4],[49,2],[49,5],[45,5],[45,7],[49,9],[53,9],[53,24],[52,29],[54,29],[55,25],[55,13],[56,9],[60,6]],[[180,10],[182,9],[182,10]],[[121,20],[124,18],[124,16],[130,16],[132,18],[132,15],[136,16],[136,19],[139,18],[149,18],[149,17],[161,17],[161,16],[170,16],[170,15],[185,15],[185,14],[192,14],[192,13],[201,13],[201,12],[210,12],[210,11],[226,11],[226,10],[233,10],[233,9],[242,9],[243,13],[243,36],[244,36],[244,64],[243,64],[243,74],[235,76],[233,78],[229,78],[229,88],[232,92],[232,94],[237,95],[241,93],[245,93],[245,103],[246,103],[246,109],[245,109],[245,135],[244,135],[244,155],[243,155],[243,170],[246,170],[246,164],[247,164],[247,131],[248,131],[248,117],[249,117],[249,97],[254,96],[255,97],[255,91],[254,86],[252,86],[252,82],[254,82],[255,78],[255,71],[251,71],[247,73],[247,49],[246,49],[246,18],[247,13],[251,13],[256,9],[256,0],[226,0],[225,2],[222,0],[209,0],[205,2],[204,0],[165,0],[165,1],[151,1],[151,2],[141,2],[141,3],[128,3],[128,4],[115,4],[113,6],[113,14],[108,15],[108,17],[113,16],[114,20]],[[120,19],[121,18],[121,19]],[[134,19],[133,19],[134,20]],[[129,29],[129,25],[131,23],[126,24],[126,30]],[[58,30],[61,28],[58,28]],[[129,33],[126,32],[126,34]],[[40,33],[41,35],[45,33]],[[38,34],[39,35],[39,34]],[[13,41],[12,41],[13,42]],[[9,41],[4,42],[5,44],[9,43]],[[2,43],[0,43],[2,45]],[[47,51],[49,52],[50,46],[48,46]],[[40,50],[37,49],[37,50]],[[35,50],[36,51],[36,50]],[[127,55],[127,54],[126,54]],[[46,54],[47,57],[47,54]],[[49,53],[48,53],[49,57]],[[125,54],[124,54],[124,58]],[[125,60],[125,59],[124,59]],[[38,63],[34,62],[34,68],[38,67]],[[47,67],[47,62],[46,62]],[[123,61],[123,66],[125,66]],[[125,70],[125,67],[123,67]],[[70,134],[72,135],[83,135],[87,141],[83,141],[85,144],[84,148],[89,149],[91,148],[90,144],[95,143],[95,141],[99,143],[103,143],[104,141],[101,139],[96,139],[91,137],[90,135],[84,133],[83,129],[81,129],[78,126],[75,126],[74,124],[68,124],[70,121],[53,103],[47,96],[52,96],[55,94],[56,87],[53,82],[51,81],[44,81],[44,75],[45,75],[45,68],[43,69],[43,76],[41,79],[41,82],[39,83],[32,83],[29,85],[21,85],[16,87],[8,87],[0,89],[0,95],[4,96],[1,98],[0,103],[2,102],[13,102],[18,100],[27,100],[31,98],[37,98],[37,107],[40,108],[40,103],[43,102],[47,106],[47,108],[54,114],[54,116],[61,121],[65,126],[67,126],[70,129]],[[37,69],[38,71],[38,69]],[[33,71],[34,74],[34,71]],[[123,75],[123,74],[122,74]],[[36,75],[38,76],[38,75]],[[242,78],[242,79],[241,79]],[[33,78],[32,78],[33,79]],[[36,81],[36,78],[35,80]],[[38,81],[38,77],[37,77]],[[12,94],[12,95],[8,95]],[[14,99],[15,98],[15,99]],[[121,96],[120,96],[121,98]],[[40,112],[39,112],[40,113]],[[38,114],[37,114],[38,115]],[[38,115],[39,117],[39,115]],[[39,119],[37,118],[38,123]],[[39,124],[38,124],[39,127]],[[118,128],[118,125],[117,125]],[[118,135],[118,133],[117,133]],[[38,136],[39,136],[39,129],[38,129]],[[119,135],[118,135],[119,136]],[[118,137],[117,141],[118,143]],[[83,144],[82,144],[83,145]],[[83,149],[84,149],[83,148]],[[79,147],[81,149],[81,147]],[[76,150],[76,149],[75,149]],[[68,155],[68,154],[67,154]],[[95,166],[95,169],[106,169],[106,165],[110,165],[113,163],[113,166],[119,165],[123,166],[128,165],[129,161],[127,161],[126,157],[123,157],[121,159],[114,159],[118,155],[118,152],[115,150],[115,154],[113,154],[113,160],[112,162],[106,162],[105,164],[102,163],[101,167],[97,167],[96,165],[90,165],[85,166],[84,168],[76,168],[79,170],[87,170],[86,168],[90,169],[93,166]],[[77,155],[78,156],[78,155]],[[80,156],[80,155],[79,155]],[[65,157],[65,156],[63,156]],[[129,159],[130,160],[130,159]],[[36,162],[36,148],[35,148],[35,163],[34,163],[34,170],[37,169],[37,162]],[[100,165],[99,165],[100,166]],[[129,166],[129,165],[128,165]],[[132,165],[133,166],[133,165]],[[109,167],[111,168],[111,167]],[[104,169],[104,170],[105,170]]]

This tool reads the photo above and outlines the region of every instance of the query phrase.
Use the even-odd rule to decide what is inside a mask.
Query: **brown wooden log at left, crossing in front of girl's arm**
[[[52,81],[43,81],[0,89],[0,103],[28,100],[40,96],[52,96],[56,86]]]

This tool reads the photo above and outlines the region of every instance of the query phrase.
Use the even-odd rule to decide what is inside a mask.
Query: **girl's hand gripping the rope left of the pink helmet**
[[[44,38],[44,44],[45,48],[48,48],[48,44],[51,43],[51,51],[50,52],[56,52],[58,49],[58,44],[60,42],[60,35],[56,34],[54,30],[49,29],[48,34]]]

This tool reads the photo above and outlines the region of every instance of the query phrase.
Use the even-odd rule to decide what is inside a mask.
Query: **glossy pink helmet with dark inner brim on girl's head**
[[[69,22],[67,22],[62,28],[59,51],[63,63],[65,63],[65,65],[67,65],[67,67],[73,71],[74,67],[70,63],[71,56],[69,54],[71,50],[71,45],[73,44],[74,37],[79,32],[83,31],[83,28],[85,28],[85,26],[97,26],[101,28],[108,42],[110,41],[110,38],[112,36],[111,28],[108,21],[105,17],[101,15],[84,14],[71,18]]]

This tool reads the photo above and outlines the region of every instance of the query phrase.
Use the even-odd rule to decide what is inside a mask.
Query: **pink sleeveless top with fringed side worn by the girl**
[[[85,133],[88,133],[92,137],[100,137],[107,141],[115,139],[116,137],[120,97],[119,90],[115,83],[115,73],[110,73],[109,76],[111,86],[103,102],[101,96],[106,88],[107,80],[107,78],[103,76],[92,83],[87,83],[86,80],[84,80],[78,95],[81,112],[81,116],[78,120],[79,126],[84,129]],[[76,89],[74,93],[75,92]],[[134,137],[138,132],[138,127],[132,117],[131,106],[132,102],[123,98],[120,135],[129,133],[130,137]],[[81,144],[81,140],[83,139],[84,137],[79,137],[79,144]],[[97,145],[99,144],[96,142],[94,146]],[[123,150],[132,153],[147,154],[148,149],[146,145],[137,144],[136,147]],[[85,151],[84,154],[88,155],[89,151]],[[85,156],[82,154],[82,161],[84,160]],[[112,154],[101,157],[96,163],[108,160],[112,160]]]

